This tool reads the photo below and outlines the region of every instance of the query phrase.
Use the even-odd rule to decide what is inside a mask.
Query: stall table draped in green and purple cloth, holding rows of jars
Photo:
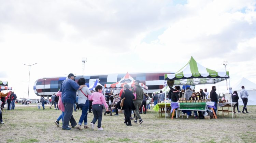
[[[215,119],[217,119],[216,114],[213,109],[216,109],[214,107],[214,102],[198,102],[198,103],[179,103],[179,102],[173,102],[171,103],[171,113],[172,113],[172,119],[174,116],[174,109],[179,110],[189,110],[189,111],[206,111],[207,107],[210,108],[213,111],[213,115]],[[176,111],[177,112],[177,111]]]

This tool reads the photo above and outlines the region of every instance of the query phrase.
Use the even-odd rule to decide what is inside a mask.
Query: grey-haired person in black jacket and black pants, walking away
[[[131,113],[131,110],[135,110],[135,106],[133,104],[133,99],[135,98],[135,96],[129,89],[130,89],[130,86],[128,84],[125,84],[124,91],[121,96],[122,99],[125,98],[124,106],[123,106],[122,110],[125,110],[125,122],[124,123],[127,126],[131,126],[130,113]]]

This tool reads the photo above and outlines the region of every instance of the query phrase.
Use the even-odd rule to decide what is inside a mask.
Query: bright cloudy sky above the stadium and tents
[[[256,83],[255,0],[0,0],[0,80],[36,98],[39,78],[176,72],[190,59]],[[196,86],[210,88],[212,85]],[[226,91],[226,82],[216,85]],[[246,87],[245,87],[246,88]]]

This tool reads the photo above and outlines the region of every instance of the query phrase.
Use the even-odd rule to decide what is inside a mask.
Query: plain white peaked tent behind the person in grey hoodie
[[[241,87],[244,86],[245,90],[248,91],[248,103],[247,105],[256,105],[256,84],[252,81],[242,78],[232,88],[233,91],[237,91],[239,96],[239,105],[243,105],[243,101],[240,97]]]

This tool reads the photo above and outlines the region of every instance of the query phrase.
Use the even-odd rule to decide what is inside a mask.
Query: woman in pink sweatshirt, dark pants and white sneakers
[[[106,104],[106,100],[104,95],[102,94],[102,86],[98,85],[95,88],[96,92],[89,96],[89,100],[93,100],[93,121],[91,121],[91,129],[94,130],[94,124],[98,120],[98,131],[103,130],[101,128],[101,120],[102,120],[102,105],[104,104],[106,111],[109,111],[109,106]]]

